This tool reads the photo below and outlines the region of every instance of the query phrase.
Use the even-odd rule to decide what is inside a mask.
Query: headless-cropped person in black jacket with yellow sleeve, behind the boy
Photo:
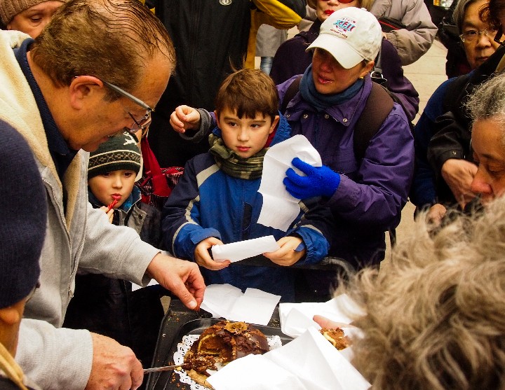
[[[204,139],[191,144],[171,130],[175,107],[187,104],[212,111],[224,78],[243,67],[248,50],[255,55],[255,18],[267,15],[267,24],[289,29],[304,17],[305,1],[158,0],[149,5],[172,37],[177,55],[175,73],[152,115],[149,144],[161,167],[184,166],[208,151],[208,143]]]

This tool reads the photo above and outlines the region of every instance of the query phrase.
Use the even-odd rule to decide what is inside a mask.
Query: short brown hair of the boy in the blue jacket
[[[224,109],[234,111],[239,118],[255,118],[257,113],[278,115],[278,93],[274,81],[260,69],[241,69],[222,82],[215,98],[217,115]]]

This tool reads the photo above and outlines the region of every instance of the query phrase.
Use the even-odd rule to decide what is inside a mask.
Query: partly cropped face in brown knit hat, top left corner
[[[1,27],[35,39],[67,0],[0,0]]]

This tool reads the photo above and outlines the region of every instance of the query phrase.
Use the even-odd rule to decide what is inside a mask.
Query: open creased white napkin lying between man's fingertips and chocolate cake
[[[230,284],[211,284],[203,295],[201,308],[214,318],[267,325],[279,300],[281,295],[257,288],[247,288],[242,293],[240,288]]]

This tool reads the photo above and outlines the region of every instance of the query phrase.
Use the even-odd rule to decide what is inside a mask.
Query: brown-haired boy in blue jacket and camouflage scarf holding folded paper
[[[258,69],[228,76],[217,92],[215,116],[210,150],[187,162],[163,209],[166,247],[200,265],[206,284],[259,288],[292,301],[294,276],[288,266],[318,263],[326,256],[331,216],[314,202],[300,204],[302,211],[287,231],[257,223],[263,204],[258,189],[264,155],[268,146],[290,137],[269,76]],[[213,245],[268,235],[275,237],[280,249],[264,256],[283,267],[228,267],[229,260],[218,262],[210,256]]]

